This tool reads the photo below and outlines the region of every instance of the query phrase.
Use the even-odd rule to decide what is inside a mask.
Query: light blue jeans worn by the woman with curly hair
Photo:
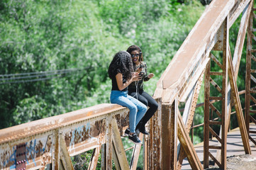
[[[128,91],[111,91],[110,101],[130,109],[129,128],[130,132],[135,132],[136,125],[148,109],[147,106],[136,98],[129,96]]]

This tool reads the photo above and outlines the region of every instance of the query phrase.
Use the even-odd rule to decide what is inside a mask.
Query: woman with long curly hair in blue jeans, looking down
[[[108,77],[112,80],[110,101],[130,109],[128,139],[135,144],[142,142],[135,133],[135,127],[147,111],[147,107],[128,95],[128,85],[140,80],[138,73],[133,72],[133,62],[128,52],[117,52],[108,67]]]

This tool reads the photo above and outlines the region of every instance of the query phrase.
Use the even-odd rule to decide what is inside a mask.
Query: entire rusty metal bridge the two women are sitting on
[[[181,169],[185,157],[192,169],[206,169],[209,159],[226,169],[227,134],[231,108],[235,108],[245,154],[251,154],[250,123],[256,123],[256,57],[253,0],[213,0],[157,82],[154,97],[157,113],[144,136],[144,169]],[[229,30],[235,21],[240,28],[235,50],[230,51]],[[245,112],[236,83],[243,46],[247,40]],[[214,56],[218,51],[219,56]],[[231,55],[233,54],[233,56]],[[211,70],[218,65],[218,72]],[[201,165],[189,131],[199,90],[204,79],[204,166]],[[210,94],[210,89],[216,93]],[[183,114],[179,103],[184,103]],[[128,108],[104,103],[79,111],[36,120],[0,130],[1,169],[74,169],[70,157],[94,150],[89,169],[136,169],[140,145],[133,147],[128,163],[121,140],[128,126]],[[211,113],[216,118],[211,118]],[[219,126],[220,131],[213,130]],[[211,145],[210,135],[218,145]],[[143,136],[140,135],[140,139]],[[210,152],[216,150],[216,157]]]

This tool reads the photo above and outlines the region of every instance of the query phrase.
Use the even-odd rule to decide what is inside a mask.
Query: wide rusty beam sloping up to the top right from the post
[[[194,79],[194,70],[216,43],[217,30],[234,4],[233,0],[211,2],[157,82],[154,96],[162,96],[163,103],[172,103],[184,84]]]

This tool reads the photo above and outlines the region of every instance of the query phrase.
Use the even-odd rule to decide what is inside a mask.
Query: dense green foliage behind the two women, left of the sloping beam
[[[109,103],[108,64],[132,44],[140,45],[155,74],[145,83],[153,94],[157,79],[204,10],[196,2],[181,3],[1,1],[1,74],[79,70],[45,81],[1,81],[0,128]]]

